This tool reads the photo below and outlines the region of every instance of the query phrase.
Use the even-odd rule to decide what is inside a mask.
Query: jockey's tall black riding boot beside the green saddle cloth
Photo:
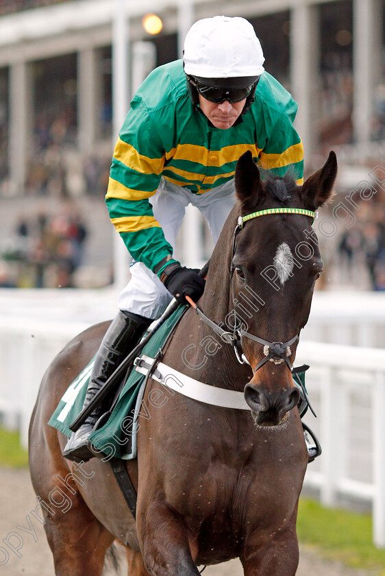
[[[97,351],[84,400],[84,407],[90,403],[90,400],[99,392],[99,389],[101,389],[129,352],[134,350],[134,347],[138,344],[151,322],[153,320],[138,314],[119,311],[103,336]],[[87,447],[88,436],[103,412],[104,407],[103,403],[101,403],[95,407],[82,426],[71,434],[63,451],[63,455],[66,458],[80,462],[87,461],[94,456]]]

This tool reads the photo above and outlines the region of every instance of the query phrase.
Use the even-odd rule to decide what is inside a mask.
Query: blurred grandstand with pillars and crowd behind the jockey
[[[362,181],[376,191],[356,210],[353,228],[348,217],[338,220],[338,233],[323,249],[329,287],[385,289],[385,184],[373,178],[373,169],[385,165],[384,0],[160,0],[156,6],[146,0],[3,0],[0,285],[90,287],[112,278],[113,232],[103,195],[116,139],[119,5],[126,9],[131,92],[153,67],[182,56],[193,21],[227,14],[253,23],[267,71],[298,101],[306,171],[318,168],[333,148],[340,197]],[[155,7],[163,28],[150,36],[142,18]],[[81,250],[73,238],[60,237],[60,243],[51,235],[47,245],[47,230],[39,228],[42,213],[58,221],[68,211],[81,214],[78,224],[88,230]],[[330,217],[337,214],[330,208]],[[24,235],[23,219],[29,219]],[[196,225],[204,260],[212,245],[206,227]]]

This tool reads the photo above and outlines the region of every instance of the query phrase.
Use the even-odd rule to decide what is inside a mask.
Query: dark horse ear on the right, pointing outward
[[[301,196],[308,206],[318,208],[325,204],[332,196],[334,180],[337,176],[337,156],[335,152],[329,153],[321,169],[303,182]]]

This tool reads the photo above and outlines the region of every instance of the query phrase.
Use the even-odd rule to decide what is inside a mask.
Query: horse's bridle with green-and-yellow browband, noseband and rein
[[[247,214],[246,216],[239,216],[235,230],[234,230],[234,234],[233,234],[232,260],[231,260],[232,263],[230,265],[230,279],[232,278],[232,276],[234,274],[234,269],[235,269],[234,264],[233,264],[233,259],[234,259],[235,249],[236,249],[236,237],[237,237],[238,233],[240,232],[240,230],[243,229],[243,226],[247,221],[249,221],[253,218],[258,218],[260,216],[265,216],[265,215],[269,215],[269,214],[299,214],[299,215],[303,215],[303,216],[309,216],[310,218],[312,218],[312,223],[314,222],[314,219],[316,218],[316,212],[313,212],[311,210],[306,210],[305,208],[266,208],[266,210],[260,210],[258,212],[252,212],[250,214]],[[242,352],[242,346],[240,344],[240,338],[242,336],[246,336],[247,338],[249,338],[253,341],[256,341],[256,342],[258,342],[258,344],[262,344],[262,346],[264,346],[264,356],[265,357],[256,365],[256,368],[253,370],[254,374],[256,373],[257,370],[259,370],[261,368],[261,366],[264,365],[264,363],[266,363],[268,361],[273,361],[275,363],[286,362],[290,372],[293,372],[293,365],[290,363],[288,357],[291,354],[290,346],[292,344],[294,344],[295,341],[297,341],[297,339],[299,339],[299,333],[286,342],[269,342],[268,340],[264,340],[258,336],[250,334],[249,332],[243,331],[242,329],[237,328],[236,326],[234,326],[234,331],[233,331],[233,333],[231,333],[229,331],[225,331],[221,327],[221,325],[216,324],[215,322],[210,320],[210,318],[208,318],[201,311],[201,309],[199,309],[197,304],[195,304],[195,302],[193,302],[189,296],[186,296],[186,300],[188,300],[188,302],[191,304],[192,308],[195,310],[197,315],[199,315],[202,322],[204,322],[205,324],[210,326],[210,328],[212,328],[212,330],[216,334],[219,335],[219,337],[221,338],[221,340],[223,342],[225,342],[225,344],[231,344],[234,347],[234,352],[235,352],[236,358],[238,359],[239,363],[249,364],[249,361],[247,361],[245,354]],[[234,310],[234,315],[235,315],[235,310]],[[221,324],[223,325],[223,322],[221,322]],[[240,353],[239,353],[239,350],[240,350]]]

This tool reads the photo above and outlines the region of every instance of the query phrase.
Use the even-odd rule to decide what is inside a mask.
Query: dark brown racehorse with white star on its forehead
[[[138,492],[136,520],[108,462],[64,459],[66,437],[47,425],[108,323],[84,331],[55,357],[32,415],[29,466],[56,576],[100,575],[114,539],[127,547],[129,576],[197,576],[197,566],[234,557],[245,576],[295,575],[308,455],[290,366],[322,269],[310,216],[332,194],[336,170],[330,152],[299,186],[287,175],[262,180],[251,152],[238,160],[237,202],[214,248],[199,309],[221,326],[238,317],[244,363],[193,308],[163,361],[210,387],[244,393],[249,409],[182,394],[159,403],[141,422],[138,459],[125,461]],[[145,400],[157,385],[149,379]]]

